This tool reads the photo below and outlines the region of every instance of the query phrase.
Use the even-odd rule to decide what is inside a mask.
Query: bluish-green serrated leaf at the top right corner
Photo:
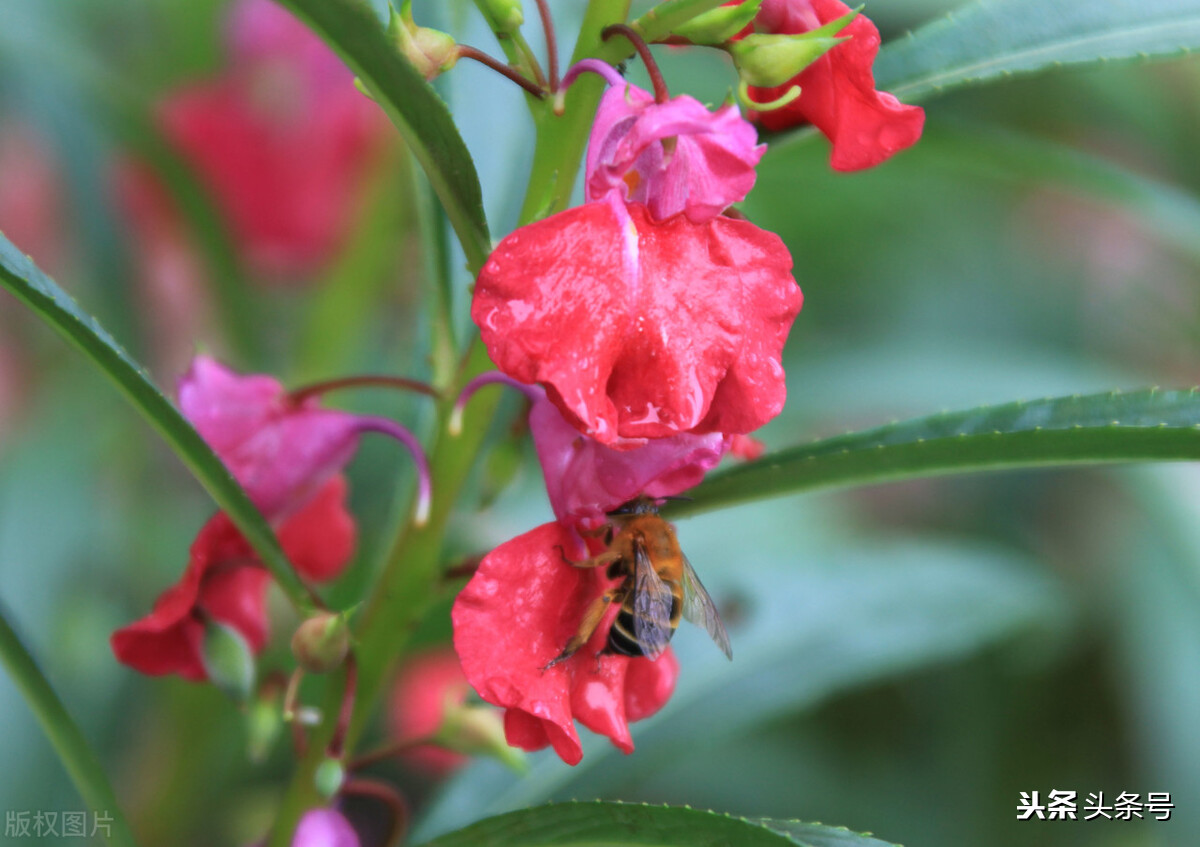
[[[1198,47],[1198,0],[983,0],[888,43],[875,82],[912,101],[1018,73],[1178,56]]]

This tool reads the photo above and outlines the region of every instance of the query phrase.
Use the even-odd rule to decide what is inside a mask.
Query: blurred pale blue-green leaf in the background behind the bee
[[[797,525],[794,507],[775,503],[679,527],[684,549],[726,614],[734,660],[726,661],[703,632],[680,627],[672,649],[684,672],[666,705],[631,727],[631,756],[582,733],[583,761],[574,768],[552,751],[529,756],[521,780],[494,763],[474,763],[442,792],[415,837],[547,800],[628,794],[676,767],[697,738],[715,746],[853,686],[970,655],[1066,615],[1062,589],[1019,557],[896,542],[798,557],[797,539],[810,534],[799,528],[779,537],[785,521]],[[772,537],[778,549],[769,549]],[[746,539],[755,539],[752,567],[742,561]],[[714,572],[721,563],[730,567]]]

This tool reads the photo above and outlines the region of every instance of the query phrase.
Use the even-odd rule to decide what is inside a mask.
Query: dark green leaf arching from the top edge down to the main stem
[[[450,110],[389,41],[379,19],[355,0],[282,0],[325,38],[400,130],[430,178],[473,270],[492,242],[479,176]]]

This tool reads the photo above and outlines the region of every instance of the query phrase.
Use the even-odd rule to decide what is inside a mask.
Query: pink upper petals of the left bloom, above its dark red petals
[[[268,518],[307,499],[350,461],[361,419],[294,402],[278,380],[197,356],[179,382],[184,416]]]

